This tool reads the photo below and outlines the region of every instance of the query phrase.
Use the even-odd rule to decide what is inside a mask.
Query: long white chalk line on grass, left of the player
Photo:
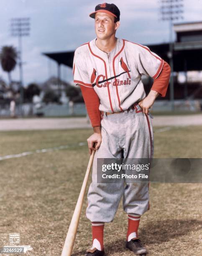
[[[86,142],[80,142],[78,144],[74,145],[64,145],[64,146],[59,146],[59,147],[53,147],[53,148],[42,148],[42,149],[37,149],[35,151],[27,151],[19,154],[13,154],[13,155],[7,155],[7,156],[0,156],[0,161],[6,160],[6,159],[11,159],[11,158],[18,158],[22,156],[28,156],[28,155],[33,155],[33,154],[38,154],[38,153],[46,153],[46,152],[51,152],[55,150],[61,150],[61,149],[66,149],[66,148],[72,148],[75,146],[84,146],[87,145]]]

